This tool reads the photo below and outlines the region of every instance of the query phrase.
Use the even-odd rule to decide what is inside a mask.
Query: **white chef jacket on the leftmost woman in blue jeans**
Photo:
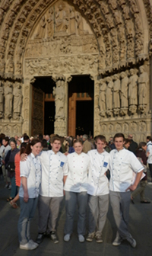
[[[27,160],[20,162],[20,176],[27,178],[27,190],[29,198],[39,196],[40,181],[41,181],[41,164],[40,159],[33,153],[27,156]],[[21,184],[19,196],[24,197],[24,189]]]

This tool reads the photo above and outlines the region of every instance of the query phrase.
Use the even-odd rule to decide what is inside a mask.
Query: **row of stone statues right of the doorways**
[[[100,116],[112,117],[121,114],[125,116],[128,110],[135,114],[138,110],[144,113],[147,107],[148,74],[147,66],[139,67],[139,76],[136,69],[121,72],[113,76],[100,79],[99,107]]]

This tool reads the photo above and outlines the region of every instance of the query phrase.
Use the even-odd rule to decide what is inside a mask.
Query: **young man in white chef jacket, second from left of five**
[[[67,158],[59,149],[61,140],[52,138],[52,150],[41,152],[42,181],[40,184],[40,197],[38,202],[39,222],[36,242],[43,242],[44,234],[49,236],[54,243],[59,240],[55,235],[56,220],[59,216],[59,207],[63,199],[63,177],[67,174]]]

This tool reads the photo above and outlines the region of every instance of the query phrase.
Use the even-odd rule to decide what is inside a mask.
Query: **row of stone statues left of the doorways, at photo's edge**
[[[13,117],[14,120],[21,119],[21,104],[22,104],[22,88],[19,82],[15,85],[11,82],[5,82],[5,86],[0,84],[0,118],[9,120]]]

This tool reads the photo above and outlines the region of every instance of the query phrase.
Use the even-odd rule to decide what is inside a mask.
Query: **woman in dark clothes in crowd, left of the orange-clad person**
[[[8,154],[5,158],[5,168],[8,169],[8,177],[11,179],[11,197],[7,198],[7,201],[11,201],[17,195],[17,186],[15,183],[15,165],[14,165],[14,158],[19,149],[17,149],[17,142],[14,138],[11,138],[9,141],[11,146],[11,150],[8,151]]]

